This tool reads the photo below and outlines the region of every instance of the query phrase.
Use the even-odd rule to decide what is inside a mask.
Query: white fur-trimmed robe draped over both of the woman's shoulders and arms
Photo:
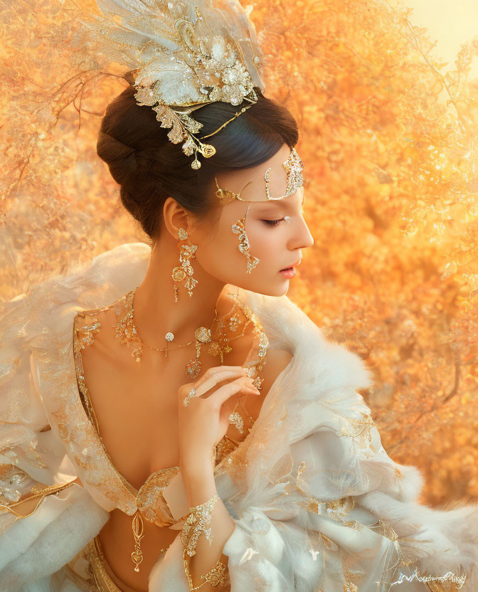
[[[81,477],[75,450],[58,436],[49,397],[55,388],[75,392],[68,381],[75,376],[76,312],[109,305],[139,285],[150,253],[143,243],[120,245],[6,304],[0,322],[0,591],[80,589],[65,564],[100,532],[112,502],[89,483],[71,484]],[[248,437],[216,466],[218,494],[235,521],[224,547],[231,591],[415,592],[429,589],[416,576],[447,572],[467,576],[457,589],[478,591],[478,507],[444,511],[415,502],[422,477],[383,450],[356,391],[373,382],[359,356],[328,342],[287,296],[242,289],[239,295],[270,347],[293,358]],[[50,392],[38,381],[40,371]],[[31,515],[17,517],[14,505],[6,508],[32,491],[41,501]],[[180,473],[164,497],[174,517],[186,514]],[[446,580],[435,589],[454,589]],[[179,536],[154,566],[149,591],[188,591]]]

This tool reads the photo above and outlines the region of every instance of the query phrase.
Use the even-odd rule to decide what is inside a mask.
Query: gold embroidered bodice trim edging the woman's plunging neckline
[[[83,359],[81,356],[81,350],[95,342],[95,335],[99,333],[102,328],[97,315],[100,312],[115,307],[116,318],[118,322],[127,314],[127,302],[129,302],[129,296],[131,294],[132,292],[128,292],[127,295],[122,296],[115,302],[112,302],[112,304],[105,307],[81,311],[75,315],[73,321],[75,375],[78,384],[80,401],[83,405],[87,418],[95,430],[97,443],[100,445],[102,453],[104,453],[105,458],[107,458],[107,460],[110,462],[112,469],[115,470],[119,479],[123,482],[124,486],[127,487],[127,490],[132,492],[134,495],[134,506],[137,507],[142,516],[149,520],[149,522],[153,522],[159,527],[168,527],[172,524],[175,524],[177,521],[172,517],[162,492],[169,484],[171,479],[173,479],[173,477],[179,472],[179,467],[166,467],[153,472],[151,475],[149,475],[149,477],[147,477],[147,480],[144,482],[142,487],[139,488],[139,490],[136,490],[133,485],[129,483],[127,479],[121,475],[121,473],[119,473],[113,464],[110,455],[107,453],[105,444],[103,443],[100,435],[97,418],[95,416],[95,410],[92,406],[90,393],[86,384],[85,370],[83,368]],[[265,354],[268,347],[267,336],[264,332],[262,332],[260,322],[253,311],[244,305],[243,302],[239,300],[237,295],[228,292],[227,297],[231,301],[231,306],[227,314],[221,316],[221,319],[223,319],[223,324],[221,327],[224,329],[226,326],[224,321],[227,321],[228,329],[227,333],[223,332],[222,338],[224,339],[225,335],[227,334],[230,336],[230,340],[232,340],[234,339],[233,336],[235,336],[236,333],[238,333],[237,337],[240,337],[240,332],[242,331],[242,333],[244,333],[245,327],[247,327],[249,324],[252,324],[254,336],[253,347],[251,347],[244,365],[250,367],[250,375],[254,378],[254,384],[260,389],[262,379],[260,378],[258,371],[262,370],[262,366],[265,364]],[[227,337],[225,337],[225,339],[226,342],[229,341]],[[248,416],[245,408],[242,408],[242,410],[243,413],[240,414],[241,416],[244,416],[244,431],[245,433],[248,433],[248,430],[250,430],[253,425],[253,418]],[[232,452],[239,443],[240,440],[235,440],[229,435],[224,435],[221,442],[219,442],[216,446],[216,466],[219,462],[221,462],[221,460],[223,460],[223,458],[227,457],[227,455]],[[75,460],[80,462],[78,458]],[[110,492],[110,497],[113,497],[114,499],[114,496],[115,494]],[[135,508],[130,503],[127,513],[131,514],[133,509]]]

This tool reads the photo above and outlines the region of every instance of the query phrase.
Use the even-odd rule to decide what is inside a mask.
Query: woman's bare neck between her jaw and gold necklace
[[[172,270],[181,265],[179,248],[174,240],[163,244],[166,240],[155,243],[147,273],[134,295],[134,324],[143,342],[158,348],[166,346],[167,332],[172,332],[174,341],[181,343],[193,339],[198,327],[210,327],[225,287],[224,282],[208,275],[196,258],[192,258],[193,278],[198,283],[190,297],[184,287],[186,280],[174,282],[171,277]],[[178,287],[178,302],[174,301],[174,283]],[[221,314],[219,310],[218,314]]]

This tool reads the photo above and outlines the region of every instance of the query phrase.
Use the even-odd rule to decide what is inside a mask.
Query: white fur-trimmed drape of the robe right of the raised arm
[[[359,356],[327,342],[287,297],[240,292],[271,347],[294,358],[272,385],[249,437],[216,478],[235,519],[225,544],[233,591],[423,591],[413,577],[467,575],[477,586],[478,507],[449,511],[415,502],[423,480],[393,462],[357,388],[371,385]],[[164,492],[170,507],[182,483]],[[174,505],[181,515],[184,507]],[[173,546],[152,573],[178,592]],[[403,576],[411,579],[406,581]],[[391,586],[393,582],[403,580]],[[171,586],[171,588],[169,588]],[[443,589],[454,589],[447,580]],[[458,586],[461,586],[458,583]]]

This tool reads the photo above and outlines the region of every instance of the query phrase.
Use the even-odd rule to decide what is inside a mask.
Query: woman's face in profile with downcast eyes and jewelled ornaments
[[[216,174],[218,186],[239,193],[254,181],[262,184],[256,186],[265,188],[265,171],[282,166],[289,155],[290,147],[284,144],[267,162]],[[206,273],[226,284],[265,295],[284,295],[293,277],[280,270],[297,265],[302,260],[302,249],[314,244],[302,217],[303,200],[303,187],[283,199],[248,202],[232,199],[221,207],[221,217],[212,233],[211,224],[203,223],[191,234],[191,240],[198,245],[197,262]],[[244,227],[249,253],[260,260],[250,273],[246,272],[247,258],[238,250],[240,235],[231,228],[246,211]]]

